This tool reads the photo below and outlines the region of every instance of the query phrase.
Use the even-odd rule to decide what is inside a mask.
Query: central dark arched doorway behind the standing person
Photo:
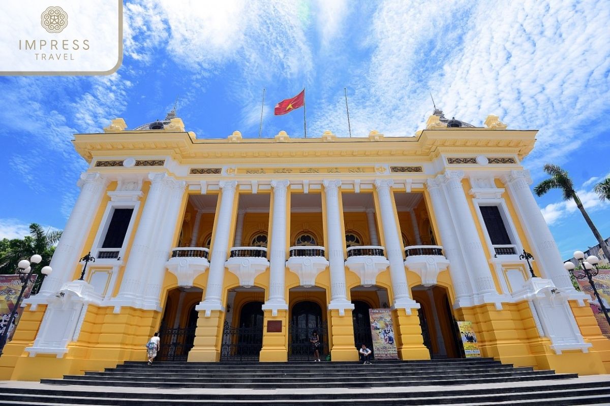
[[[289,326],[288,359],[290,361],[313,360],[314,351],[310,338],[314,331],[322,343],[320,357],[328,354],[328,331],[322,317],[322,309],[313,301],[301,301],[292,307]]]

